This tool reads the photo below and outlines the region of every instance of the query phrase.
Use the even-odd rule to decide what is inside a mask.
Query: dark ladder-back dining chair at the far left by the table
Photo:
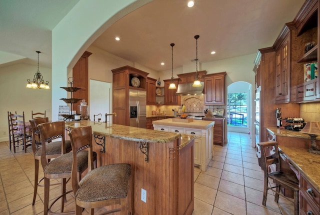
[[[9,115],[13,151],[15,153],[15,147],[22,145],[22,150],[24,149],[24,152],[26,153],[26,148],[31,145],[32,136],[30,134],[30,126],[24,121],[24,111],[22,112],[22,115],[16,114],[16,112],[14,114],[10,112]]]

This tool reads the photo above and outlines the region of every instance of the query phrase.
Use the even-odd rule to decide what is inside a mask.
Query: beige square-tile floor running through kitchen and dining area
[[[272,192],[266,206],[261,205],[263,171],[257,164],[248,134],[229,132],[228,143],[223,147],[214,145],[213,151],[207,170],[197,167],[194,170],[193,215],[293,214],[293,204],[281,197],[279,203],[274,202]],[[0,142],[0,215],[43,213],[43,187],[38,188],[35,205],[31,205],[33,160],[31,148],[27,148],[27,153],[18,149],[14,154],[8,142]],[[40,168],[43,175],[41,171]],[[50,188],[50,196],[59,193],[59,186]],[[65,211],[73,210],[73,204],[68,196]],[[96,210],[95,214],[101,211]]]

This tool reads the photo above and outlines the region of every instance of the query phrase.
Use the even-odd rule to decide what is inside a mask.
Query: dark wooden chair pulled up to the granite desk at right
[[[284,196],[280,187],[293,190],[294,214],[299,213],[299,181],[295,175],[286,174],[281,171],[280,155],[277,142],[259,142],[261,149],[261,168],[264,171],[264,189],[262,204],[265,206],[267,191],[271,189],[274,195],[274,201],[278,202],[279,195]],[[269,165],[275,166],[275,171],[269,172]],[[269,179],[275,183],[275,186],[268,186]],[[275,189],[274,189],[275,188]]]

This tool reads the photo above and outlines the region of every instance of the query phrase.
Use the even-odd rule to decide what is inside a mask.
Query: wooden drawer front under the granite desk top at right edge
[[[301,174],[299,180],[299,192],[303,193],[309,204],[313,204],[317,210],[320,210],[320,193],[316,190]]]

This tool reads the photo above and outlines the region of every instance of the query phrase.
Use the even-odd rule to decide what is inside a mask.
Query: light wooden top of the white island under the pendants
[[[207,129],[210,126],[214,125],[214,121],[193,119],[193,121],[190,121],[190,122],[180,122],[180,121],[172,121],[172,118],[165,118],[165,119],[152,121],[152,124],[164,125],[164,126],[175,126],[175,127],[186,127],[186,128],[194,128],[194,129]]]

